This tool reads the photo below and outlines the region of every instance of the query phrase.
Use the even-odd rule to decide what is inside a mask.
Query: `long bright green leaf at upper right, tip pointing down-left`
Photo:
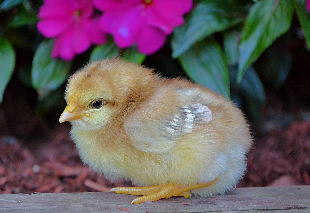
[[[261,0],[252,6],[240,42],[238,82],[246,68],[290,28],[293,13],[291,0]]]

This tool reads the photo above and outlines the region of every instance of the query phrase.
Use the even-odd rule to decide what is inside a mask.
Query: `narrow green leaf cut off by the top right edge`
[[[310,13],[306,7],[306,0],[295,0],[295,7],[308,47],[310,48]]]

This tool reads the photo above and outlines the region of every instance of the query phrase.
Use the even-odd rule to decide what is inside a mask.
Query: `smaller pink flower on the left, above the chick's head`
[[[73,59],[92,43],[102,44],[105,34],[92,17],[91,0],[44,0],[38,17],[38,30],[47,38],[55,38],[52,57]]]

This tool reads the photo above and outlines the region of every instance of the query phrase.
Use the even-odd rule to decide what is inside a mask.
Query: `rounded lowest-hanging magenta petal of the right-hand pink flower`
[[[145,27],[141,30],[137,40],[138,50],[150,55],[162,48],[165,41],[166,35],[162,30],[154,27]]]

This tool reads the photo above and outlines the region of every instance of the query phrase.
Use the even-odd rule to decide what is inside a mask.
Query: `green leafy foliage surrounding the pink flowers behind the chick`
[[[57,89],[70,71],[89,61],[121,57],[142,64],[152,58],[139,53],[135,46],[120,49],[109,37],[105,44],[92,46],[70,62],[53,59],[53,40],[44,39],[36,28],[41,5],[40,0],[0,0],[0,102],[14,69],[22,84],[38,92],[39,102],[45,100],[38,104],[44,109],[53,105],[46,101],[48,97],[59,99],[55,97],[61,94]],[[289,37],[283,34],[292,34],[294,17],[309,46],[306,0],[194,1],[184,25],[175,28],[166,41],[163,52],[170,59],[163,60],[166,64],[162,66],[177,59],[189,78],[238,105],[246,102],[248,111],[258,120],[259,108],[266,101],[263,84],[278,89],[290,73],[290,50],[281,48],[282,43],[277,41]],[[262,57],[265,60],[259,60]]]

